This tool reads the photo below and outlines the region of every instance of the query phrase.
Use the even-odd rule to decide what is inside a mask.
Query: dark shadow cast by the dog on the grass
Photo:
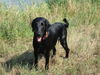
[[[34,64],[33,50],[28,50],[19,56],[14,56],[10,58],[9,60],[7,60],[3,64],[3,67],[5,68],[6,72],[11,71],[15,65],[20,65],[20,66],[28,65],[28,68],[31,69],[32,63]]]

